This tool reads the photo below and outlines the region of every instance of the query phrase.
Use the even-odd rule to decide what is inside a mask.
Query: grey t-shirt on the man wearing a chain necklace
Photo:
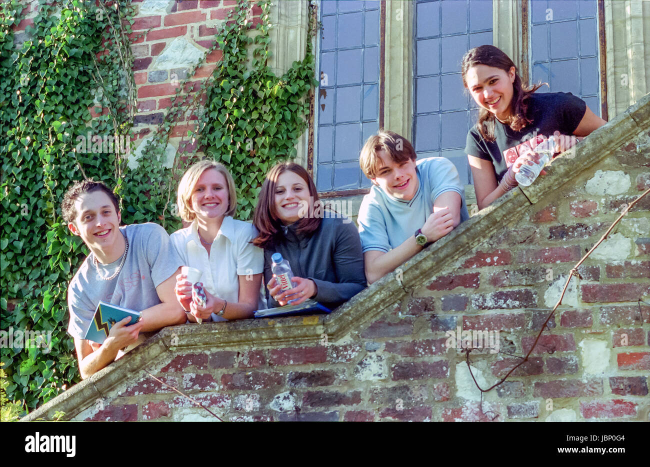
[[[98,263],[98,272],[90,253],[70,281],[68,333],[75,338],[85,338],[100,300],[138,312],[160,304],[156,287],[183,265],[168,233],[158,224],[132,224],[120,227],[120,232],[129,240],[129,251],[118,276],[98,280],[98,274],[112,276],[122,262],[121,256],[107,265]]]

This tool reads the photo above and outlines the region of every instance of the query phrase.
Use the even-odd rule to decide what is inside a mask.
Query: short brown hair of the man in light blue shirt
[[[376,135],[372,135],[361,148],[359,166],[367,178],[377,177],[377,172],[382,165],[382,159],[377,154],[380,151],[389,154],[395,163],[406,162],[408,159],[415,161],[417,157],[408,139],[398,135],[395,131],[382,128]]]

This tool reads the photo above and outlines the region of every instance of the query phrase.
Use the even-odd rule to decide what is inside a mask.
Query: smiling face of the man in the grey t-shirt
[[[113,247],[122,245],[122,216],[106,193],[96,190],[79,195],[75,200],[75,213],[77,216],[68,223],[68,228],[79,235],[88,248],[110,255]]]

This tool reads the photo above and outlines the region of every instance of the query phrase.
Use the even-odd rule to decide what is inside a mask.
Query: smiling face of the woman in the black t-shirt
[[[465,85],[476,104],[495,114],[504,122],[512,114],[512,83],[515,81],[515,67],[508,72],[487,65],[474,65],[465,75]]]

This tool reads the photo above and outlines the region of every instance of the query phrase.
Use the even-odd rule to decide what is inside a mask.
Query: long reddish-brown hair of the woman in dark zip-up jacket
[[[257,228],[257,232],[259,232],[259,235],[257,235],[257,237],[252,241],[253,245],[256,247],[272,247],[272,245],[281,239],[283,235],[282,221],[279,219],[278,213],[276,212],[275,196],[278,177],[287,170],[294,172],[294,174],[298,174],[298,176],[307,183],[307,186],[309,187],[309,196],[311,196],[313,204],[313,206],[309,207],[309,212],[313,213],[316,210],[316,206],[320,203],[320,200],[318,200],[316,185],[314,185],[314,181],[311,180],[309,172],[307,172],[302,165],[293,162],[283,162],[275,165],[268,171],[268,174],[266,174],[262,190],[259,193],[259,198],[257,198],[255,213],[253,214],[253,225]],[[312,233],[318,228],[318,226],[320,226],[320,217],[307,215],[298,220],[297,224],[297,232]]]

